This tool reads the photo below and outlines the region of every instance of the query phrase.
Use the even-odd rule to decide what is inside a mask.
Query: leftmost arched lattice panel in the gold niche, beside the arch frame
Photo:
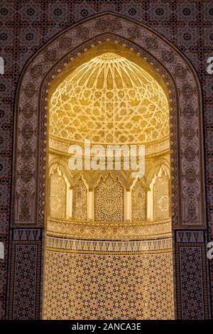
[[[50,216],[65,218],[67,202],[67,185],[58,173],[50,175]]]

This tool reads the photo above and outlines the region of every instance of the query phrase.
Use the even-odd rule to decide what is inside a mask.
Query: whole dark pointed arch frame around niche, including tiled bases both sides
[[[14,104],[7,317],[41,316],[48,85],[70,58],[106,39],[138,53],[153,73],[164,77],[170,90],[176,318],[209,318],[200,83],[172,43],[141,23],[111,13],[92,16],[58,33],[21,73]]]

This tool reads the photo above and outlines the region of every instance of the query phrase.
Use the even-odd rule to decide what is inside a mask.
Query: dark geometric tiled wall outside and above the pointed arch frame
[[[154,28],[174,43],[194,65],[203,88],[207,212],[209,215],[209,237],[213,239],[213,99],[212,76],[207,73],[207,58],[213,52],[213,5],[212,1],[7,1],[0,5],[1,56],[5,60],[5,75],[0,82],[0,239],[4,242],[5,259],[0,262],[0,318],[5,315],[6,263],[9,232],[9,193],[11,186],[11,145],[13,127],[13,98],[18,77],[26,61],[41,45],[46,43],[63,28],[102,11],[124,14]],[[109,24],[102,23],[102,31]],[[87,31],[80,31],[81,36]],[[129,29],[132,41],[138,38],[138,30]],[[66,41],[67,43],[67,41]],[[150,48],[152,44],[150,44]],[[173,55],[163,55],[170,61]],[[176,75],[180,75],[177,66]],[[184,69],[182,74],[184,74]],[[28,112],[31,112],[28,109]],[[189,116],[190,109],[187,111]],[[190,147],[190,156],[193,154]],[[12,232],[11,232],[12,233]],[[213,282],[213,266],[212,266]],[[213,294],[212,294],[213,296]]]

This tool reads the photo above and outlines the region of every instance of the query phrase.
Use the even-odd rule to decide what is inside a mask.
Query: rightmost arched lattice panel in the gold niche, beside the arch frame
[[[170,217],[170,179],[167,175],[158,176],[153,186],[154,219]]]

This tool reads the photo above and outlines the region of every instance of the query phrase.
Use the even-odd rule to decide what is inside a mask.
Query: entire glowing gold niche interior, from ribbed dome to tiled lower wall
[[[174,318],[168,92],[116,48],[50,96],[44,319]],[[144,144],[145,176],[70,171],[84,139]]]

